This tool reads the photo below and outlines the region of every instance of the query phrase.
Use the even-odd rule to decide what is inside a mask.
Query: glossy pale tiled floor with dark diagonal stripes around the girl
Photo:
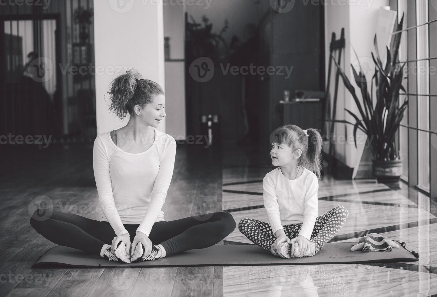
[[[236,148],[223,152],[223,209],[237,224],[243,217],[266,221],[262,180],[274,167]],[[230,158],[226,156],[232,156]],[[233,164],[237,161],[237,164]],[[429,197],[375,180],[319,181],[319,215],[342,204],[349,218],[332,241],[357,241],[379,233],[406,242],[419,262],[223,268],[224,296],[430,296],[437,294],[437,218]],[[251,242],[238,228],[225,244]]]

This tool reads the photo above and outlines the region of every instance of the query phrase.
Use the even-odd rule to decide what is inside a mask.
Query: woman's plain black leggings
[[[100,255],[102,246],[111,245],[112,239],[116,236],[108,222],[57,210],[36,210],[30,224],[39,234],[57,245],[97,255]],[[132,242],[139,225],[124,226]],[[235,220],[230,213],[207,213],[180,220],[156,222],[150,231],[149,239],[153,245],[163,245],[166,255],[172,255],[215,245],[234,231],[235,226]]]

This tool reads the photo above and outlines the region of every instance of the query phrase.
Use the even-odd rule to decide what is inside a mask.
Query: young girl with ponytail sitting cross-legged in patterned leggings
[[[271,145],[272,164],[277,168],[263,179],[270,224],[243,218],[238,228],[273,255],[288,259],[315,255],[348,216],[339,205],[317,217],[322,137],[315,129],[286,125],[272,133]]]

